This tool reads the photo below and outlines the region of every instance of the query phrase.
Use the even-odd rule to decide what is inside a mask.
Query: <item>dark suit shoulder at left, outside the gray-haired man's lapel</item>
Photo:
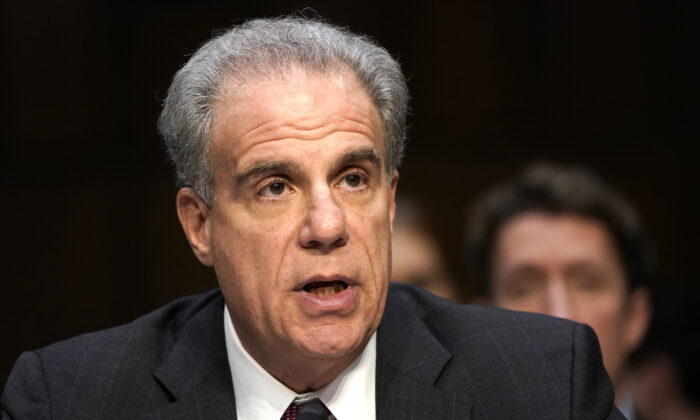
[[[60,407],[105,401],[117,387],[145,395],[170,347],[193,330],[186,326],[222,311],[216,289],[178,299],[125,325],[25,352],[7,380],[2,406],[18,418],[41,418],[38,413],[50,417],[50,410]],[[96,410],[83,408],[85,413]]]

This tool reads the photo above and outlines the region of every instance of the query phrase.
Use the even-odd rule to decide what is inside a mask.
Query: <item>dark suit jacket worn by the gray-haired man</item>
[[[2,418],[234,419],[223,310],[214,290],[24,353]],[[378,329],[376,405],[378,419],[623,418],[589,327],[403,285]]]

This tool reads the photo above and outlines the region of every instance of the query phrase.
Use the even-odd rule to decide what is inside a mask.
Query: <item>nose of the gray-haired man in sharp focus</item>
[[[344,246],[349,236],[345,213],[329,188],[318,188],[309,195],[307,214],[299,233],[302,247],[330,252]]]

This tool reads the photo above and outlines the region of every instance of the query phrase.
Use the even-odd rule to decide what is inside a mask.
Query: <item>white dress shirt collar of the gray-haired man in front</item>
[[[337,378],[317,391],[301,395],[267,373],[248,354],[227,308],[224,308],[224,334],[239,420],[279,420],[295,398],[306,401],[316,397],[338,420],[375,419],[376,332],[362,354]]]

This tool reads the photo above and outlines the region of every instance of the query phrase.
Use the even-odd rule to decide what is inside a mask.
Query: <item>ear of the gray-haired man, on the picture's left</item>
[[[202,264],[212,266],[209,223],[211,208],[190,188],[178,191],[176,205],[177,216],[194,255]]]

